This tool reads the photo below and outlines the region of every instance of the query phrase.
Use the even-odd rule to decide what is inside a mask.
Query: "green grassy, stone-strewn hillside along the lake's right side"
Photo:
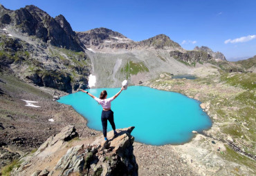
[[[152,80],[151,86],[161,90],[180,92],[196,97],[202,103],[209,104],[207,111],[212,120],[218,124],[221,133],[213,133],[214,137],[226,140],[230,135],[234,144],[251,155],[255,155],[255,91],[256,74],[253,72],[226,72],[211,67],[218,72],[198,79]],[[213,81],[214,80],[214,81]],[[224,157],[224,155],[221,155]],[[228,148],[224,159],[228,158],[237,164],[253,166],[253,160],[242,156]]]

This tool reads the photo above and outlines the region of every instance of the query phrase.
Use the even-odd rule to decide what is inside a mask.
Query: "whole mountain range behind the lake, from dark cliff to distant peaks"
[[[206,46],[185,50],[163,34],[132,41],[107,28],[74,32],[62,14],[53,18],[36,6],[8,10],[0,5],[0,28],[2,70],[67,92],[86,88],[90,74],[97,77],[96,87],[114,87],[122,79],[136,84],[161,72],[188,73],[196,63],[244,69],[241,64],[230,68],[221,52]]]

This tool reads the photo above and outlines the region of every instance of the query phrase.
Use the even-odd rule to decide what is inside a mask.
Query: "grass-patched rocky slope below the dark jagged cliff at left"
[[[38,86],[46,86],[72,92],[77,88],[87,88],[89,69],[86,67],[86,55],[82,52],[70,52],[68,56],[53,55],[55,48],[44,53],[45,47],[38,43],[31,45],[26,41],[12,37],[0,36],[0,69],[9,70],[21,79],[28,79]],[[61,58],[61,59],[60,59]],[[27,71],[21,72],[26,69]],[[73,77],[73,75],[76,77]]]

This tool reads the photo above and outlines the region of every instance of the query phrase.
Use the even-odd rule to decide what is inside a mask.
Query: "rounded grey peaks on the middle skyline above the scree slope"
[[[141,49],[163,49],[163,50],[182,50],[181,46],[172,41],[166,35],[156,35],[155,37],[143,40],[132,41],[119,32],[114,32],[107,28],[95,28],[86,32],[77,32],[78,37],[84,46],[97,46],[98,49],[125,49],[125,50],[141,50]]]

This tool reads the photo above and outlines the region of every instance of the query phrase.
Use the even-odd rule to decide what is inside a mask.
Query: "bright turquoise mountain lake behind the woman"
[[[107,90],[108,98],[120,88],[89,89],[99,97]],[[102,131],[102,106],[84,92],[61,97],[58,102],[68,104],[83,115],[89,128]],[[194,136],[192,130],[207,130],[212,121],[200,107],[200,101],[176,92],[156,90],[145,86],[129,86],[111,102],[116,128],[135,126],[132,135],[143,144],[183,144]],[[108,122],[107,130],[112,130]]]

